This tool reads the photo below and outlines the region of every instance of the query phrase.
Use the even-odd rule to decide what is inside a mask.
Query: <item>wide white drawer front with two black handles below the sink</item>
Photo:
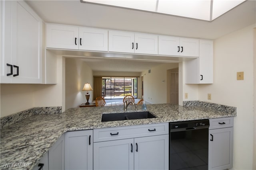
[[[102,142],[135,137],[165,135],[169,133],[168,130],[168,123],[94,129],[93,141]]]

